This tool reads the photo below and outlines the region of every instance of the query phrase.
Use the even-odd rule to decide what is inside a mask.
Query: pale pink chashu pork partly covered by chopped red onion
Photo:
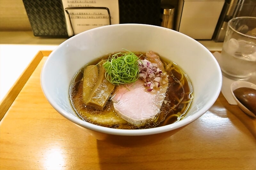
[[[150,52],[150,54],[152,53]],[[157,61],[157,65],[163,69],[163,64],[159,57],[157,55],[152,56],[154,58],[152,59],[150,55],[148,60]],[[154,119],[160,112],[167,86],[168,83],[148,92],[144,87],[144,81],[140,79],[135,83],[121,85],[116,88],[112,97],[114,109],[120,117],[129,123],[137,126],[143,125],[147,120]]]

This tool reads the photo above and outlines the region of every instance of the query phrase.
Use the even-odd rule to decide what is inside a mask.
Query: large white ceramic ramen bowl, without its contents
[[[69,85],[86,63],[107,53],[152,50],[175,62],[192,82],[194,99],[181,121],[151,129],[122,130],[101,127],[81,120],[69,102]],[[216,101],[222,84],[219,64],[212,53],[196,40],[164,27],[119,24],[98,27],[69,38],[46,60],[41,85],[49,103],[62,116],[83,127],[100,140],[118,144],[145,144],[167,138],[202,116]],[[154,137],[153,137],[154,136]],[[128,140],[129,139],[129,140]]]

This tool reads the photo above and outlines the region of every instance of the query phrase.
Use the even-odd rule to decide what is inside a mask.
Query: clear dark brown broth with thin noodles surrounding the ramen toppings
[[[140,59],[144,59],[146,53],[136,53],[138,56],[140,56],[140,54],[142,54],[142,58]],[[168,89],[160,109],[160,113],[155,117],[154,120],[148,121],[145,125],[141,125],[139,127],[130,124],[117,115],[110,99],[106,103],[103,110],[85,106],[82,100],[83,81],[81,81],[84,68],[87,65],[96,65],[100,60],[108,59],[108,57],[109,54],[86,64],[77,72],[71,81],[69,89],[70,103],[73,106],[76,114],[82,120],[109,128],[147,129],[175,123],[185,116],[193,99],[191,82],[188,80],[187,75],[184,74],[176,64],[172,63],[172,61],[164,59],[163,57],[160,57],[160,59],[164,63],[165,68],[167,67],[168,63],[172,63],[172,66],[165,70],[169,75]],[[143,105],[143,101],[141,104]]]

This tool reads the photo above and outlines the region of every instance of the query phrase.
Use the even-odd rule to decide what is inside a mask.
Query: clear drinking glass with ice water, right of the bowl
[[[222,74],[233,80],[248,80],[256,71],[256,18],[228,21],[221,51]]]

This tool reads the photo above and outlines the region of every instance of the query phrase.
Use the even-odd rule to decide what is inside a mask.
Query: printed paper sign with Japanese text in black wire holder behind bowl
[[[68,36],[110,25],[110,22],[119,24],[118,0],[62,0],[62,4]]]

